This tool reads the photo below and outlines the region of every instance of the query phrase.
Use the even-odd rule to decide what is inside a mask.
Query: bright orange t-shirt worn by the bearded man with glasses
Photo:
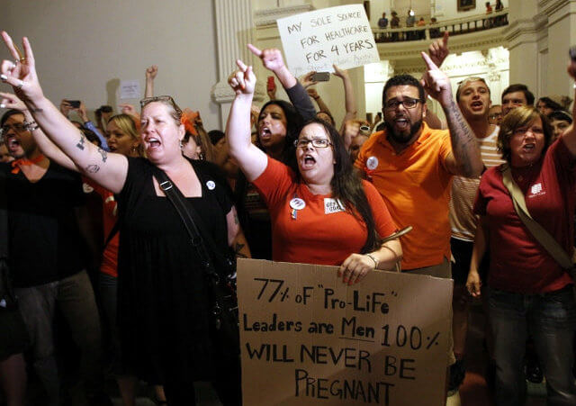
[[[450,134],[423,126],[419,139],[400,154],[385,131],[376,132],[355,163],[382,194],[393,221],[400,228],[413,227],[401,237],[402,269],[438,265],[450,258],[448,203],[453,175],[445,165],[452,152]]]

